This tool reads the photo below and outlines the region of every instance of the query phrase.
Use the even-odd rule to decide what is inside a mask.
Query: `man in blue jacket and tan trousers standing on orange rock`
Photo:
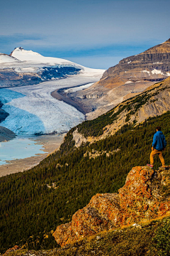
[[[153,142],[152,142],[152,152],[150,154],[150,166],[153,168],[154,166],[154,156],[158,154],[159,159],[162,162],[162,167],[165,169],[164,157],[162,156],[162,151],[166,148],[166,139],[164,137],[163,132],[161,131],[161,127],[157,127],[157,132],[154,134]]]

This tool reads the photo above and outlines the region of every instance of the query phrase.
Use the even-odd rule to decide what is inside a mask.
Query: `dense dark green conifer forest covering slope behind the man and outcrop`
[[[170,112],[166,112],[137,127],[125,125],[114,136],[79,149],[74,148],[72,129],[60,151],[38,166],[0,178],[1,252],[16,244],[27,244],[29,249],[35,250],[55,247],[52,236],[46,238],[45,234],[69,222],[75,211],[86,206],[96,193],[118,192],[133,166],[148,163],[155,127],[162,126],[170,144],[169,124]],[[84,157],[86,151],[92,149],[120,151],[95,159]],[[169,164],[169,154],[167,147],[164,151],[166,164]],[[155,168],[161,166],[158,159],[155,163]]]

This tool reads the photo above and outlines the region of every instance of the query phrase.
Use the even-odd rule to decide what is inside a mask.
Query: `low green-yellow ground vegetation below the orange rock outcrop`
[[[10,256],[28,255],[28,252],[36,256],[45,253],[50,256],[169,256],[169,230],[170,218],[166,217],[140,224],[137,228],[130,226],[99,233],[60,250],[36,252],[25,249],[12,252]]]

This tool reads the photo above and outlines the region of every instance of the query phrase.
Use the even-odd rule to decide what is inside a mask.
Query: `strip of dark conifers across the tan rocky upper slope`
[[[98,137],[103,134],[103,129],[106,127],[106,125],[112,124],[116,119],[118,119],[119,114],[124,110],[127,112],[125,121],[128,122],[130,117],[134,115],[137,110],[142,107],[142,105],[145,105],[146,103],[149,104],[149,99],[152,96],[159,94],[160,90],[165,90],[167,87],[169,87],[169,85],[166,85],[165,87],[159,88],[161,85],[162,83],[159,82],[157,87],[153,87],[151,90],[142,92],[136,97],[125,100],[125,102],[122,102],[120,105],[118,105],[118,107],[114,107],[113,110],[108,111],[106,114],[102,114],[100,117],[94,120],[89,120],[79,124],[77,126],[78,132],[84,134],[84,137]],[[154,92],[156,88],[157,91]],[[153,102],[153,100],[151,100],[151,102]]]

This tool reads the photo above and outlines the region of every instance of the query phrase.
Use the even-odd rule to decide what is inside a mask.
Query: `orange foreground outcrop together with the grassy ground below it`
[[[120,203],[122,210],[118,208]],[[117,215],[119,210],[120,215],[116,220],[114,215]],[[159,217],[155,218],[156,215]],[[70,230],[64,229],[66,224],[57,228],[60,235],[64,235],[63,240],[62,237],[58,238],[60,242],[68,242],[62,248],[29,250],[27,245],[16,245],[8,249],[3,256],[169,255],[169,170],[150,172],[146,167],[135,167],[128,174],[125,186],[120,188],[119,194],[97,194],[91,198],[89,205],[75,213],[74,217]],[[120,228],[120,219],[128,222],[128,225]],[[69,232],[71,229],[72,233]],[[57,231],[54,235],[57,235]],[[69,244],[71,240],[72,243]]]

